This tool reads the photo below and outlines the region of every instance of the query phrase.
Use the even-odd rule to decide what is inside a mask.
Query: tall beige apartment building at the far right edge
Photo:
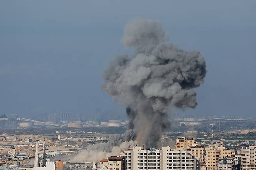
[[[242,147],[241,170],[256,170],[256,146]]]

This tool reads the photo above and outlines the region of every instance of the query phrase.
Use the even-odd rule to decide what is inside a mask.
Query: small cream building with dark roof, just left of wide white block
[[[126,170],[126,162],[123,156],[110,156],[108,158],[108,170]]]

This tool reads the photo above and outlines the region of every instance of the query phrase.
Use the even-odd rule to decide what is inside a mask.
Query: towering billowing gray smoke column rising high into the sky
[[[122,42],[135,47],[132,56],[117,56],[104,71],[103,90],[127,107],[130,128],[139,144],[158,146],[170,127],[168,106],[195,108],[196,92],[206,65],[199,51],[185,51],[167,42],[158,21],[137,18],[124,27]]]

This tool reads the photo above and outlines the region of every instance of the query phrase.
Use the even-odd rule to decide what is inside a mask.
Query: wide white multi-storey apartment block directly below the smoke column
[[[121,154],[126,158],[126,167],[131,170],[200,170],[200,160],[188,151],[172,150],[169,146],[160,149],[134,146]]]

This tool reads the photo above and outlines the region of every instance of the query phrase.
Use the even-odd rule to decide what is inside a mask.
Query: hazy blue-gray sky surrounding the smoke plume
[[[124,25],[160,21],[207,63],[195,115],[255,115],[256,1],[0,1],[0,114],[125,114],[101,90]]]

